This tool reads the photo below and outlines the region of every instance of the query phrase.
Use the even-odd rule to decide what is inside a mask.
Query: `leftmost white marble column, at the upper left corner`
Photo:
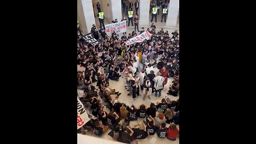
[[[90,33],[92,25],[95,24],[92,0],[77,0],[77,12],[79,14],[78,21],[81,23],[84,32],[83,34]]]

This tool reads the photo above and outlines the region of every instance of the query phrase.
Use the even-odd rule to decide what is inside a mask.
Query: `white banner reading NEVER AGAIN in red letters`
[[[115,31],[116,34],[124,33],[126,31],[126,21],[110,23],[108,25],[105,25],[105,29],[107,34],[113,31]]]

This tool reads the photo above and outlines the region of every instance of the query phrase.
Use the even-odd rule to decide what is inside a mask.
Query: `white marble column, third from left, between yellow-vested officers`
[[[139,26],[148,26],[149,25],[149,0],[140,0],[139,7]],[[136,13],[135,13],[136,14]],[[146,28],[145,28],[146,29]]]

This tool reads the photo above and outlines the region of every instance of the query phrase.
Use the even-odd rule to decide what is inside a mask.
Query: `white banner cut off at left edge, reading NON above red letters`
[[[77,97],[77,130],[86,124],[90,118],[88,117],[83,103]]]

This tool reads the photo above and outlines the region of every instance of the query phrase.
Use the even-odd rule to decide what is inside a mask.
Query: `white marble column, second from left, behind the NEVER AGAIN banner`
[[[113,20],[117,19],[118,22],[122,20],[122,3],[121,0],[110,0],[110,12]]]

